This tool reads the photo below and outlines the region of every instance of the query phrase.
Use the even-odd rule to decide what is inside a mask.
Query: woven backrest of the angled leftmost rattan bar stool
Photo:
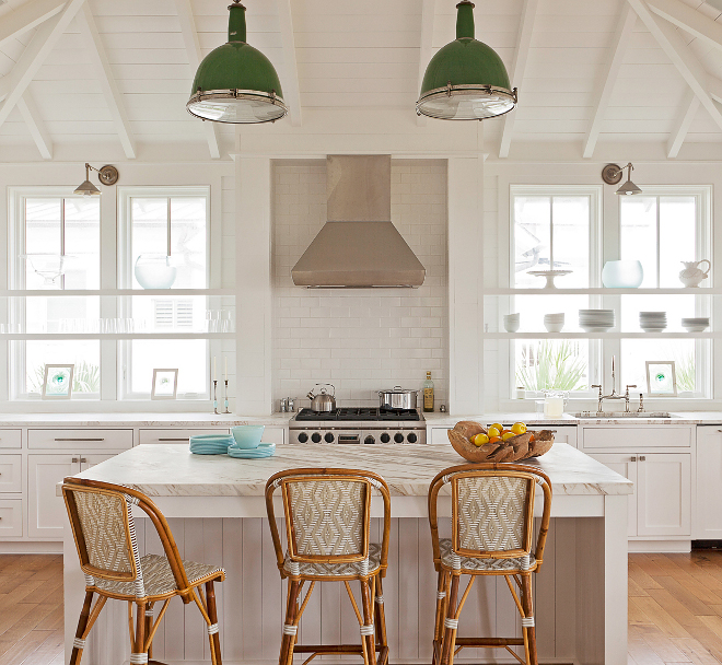
[[[135,504],[153,522],[177,587],[187,588],[171,529],[148,497],[130,488],[79,478],[65,479],[62,497],[89,586],[94,585],[94,579],[133,582],[136,596],[145,595],[131,510]]]

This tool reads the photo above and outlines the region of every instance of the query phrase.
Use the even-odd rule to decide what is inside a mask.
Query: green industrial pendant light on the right
[[[418,115],[442,120],[484,120],[516,106],[501,58],[474,38],[474,3],[456,5],[456,39],[431,58],[416,103]]]

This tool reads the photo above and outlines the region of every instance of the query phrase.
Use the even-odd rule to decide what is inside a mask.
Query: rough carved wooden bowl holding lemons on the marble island
[[[462,420],[449,430],[449,441],[454,450],[468,462],[520,462],[531,457],[540,457],[554,445],[554,434],[549,430],[526,431],[506,441],[497,441],[477,446],[470,439],[487,430],[473,420]]]

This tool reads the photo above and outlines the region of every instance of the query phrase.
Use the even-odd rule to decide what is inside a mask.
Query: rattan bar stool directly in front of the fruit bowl
[[[533,550],[534,493],[544,492],[542,524]],[[439,490],[451,485],[452,537],[439,538]],[[447,468],[429,487],[433,561],[439,573],[433,665],[452,665],[464,648],[505,649],[520,663],[537,665],[532,573],[539,571],[549,529],[551,483],[521,464],[466,464]],[[462,575],[470,575],[459,599]],[[503,575],[522,618],[522,638],[458,638],[458,617],[477,575]],[[514,588],[514,585],[519,588]],[[524,645],[522,660],[512,649]]]

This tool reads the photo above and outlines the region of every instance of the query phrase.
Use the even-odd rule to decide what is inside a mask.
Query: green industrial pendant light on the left
[[[271,61],[246,44],[246,8],[229,7],[229,40],[198,66],[186,104],[188,112],[213,122],[269,122],[288,112]]]

